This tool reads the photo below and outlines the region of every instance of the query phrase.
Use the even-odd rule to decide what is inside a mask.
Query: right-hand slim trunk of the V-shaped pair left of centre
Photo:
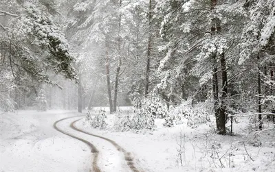
[[[122,0],[120,0],[120,7],[122,5]],[[118,66],[116,68],[116,74],[115,74],[115,91],[113,95],[113,112],[116,112],[116,106],[117,106],[117,101],[118,101],[118,80],[120,77],[120,68],[122,65],[122,54],[121,54],[121,14],[119,16],[119,21],[118,21]]]

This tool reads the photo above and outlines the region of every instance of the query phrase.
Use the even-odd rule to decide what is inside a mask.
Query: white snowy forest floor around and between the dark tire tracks
[[[128,113],[128,109],[124,112]],[[61,110],[0,112],[0,171],[89,171],[92,155],[87,145],[52,127],[59,119],[78,115],[81,114]],[[93,143],[100,151],[98,166],[102,171],[126,169],[122,153],[108,141],[69,128],[70,123],[81,118],[61,121],[58,127]],[[78,121],[76,127],[115,141],[131,153],[144,172],[275,171],[274,131],[262,132],[256,138],[255,132],[246,136],[248,121],[240,120],[234,125],[237,136],[213,134],[213,127],[206,124],[194,129],[186,123],[164,128],[162,120],[156,120],[153,132],[97,130],[85,120]],[[109,125],[113,121],[114,115],[108,115]]]

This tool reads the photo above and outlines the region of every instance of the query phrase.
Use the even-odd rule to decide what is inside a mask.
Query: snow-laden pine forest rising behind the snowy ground
[[[0,1],[0,112],[77,110],[100,129],[114,115],[116,132],[207,124],[274,150],[274,72],[274,0]]]

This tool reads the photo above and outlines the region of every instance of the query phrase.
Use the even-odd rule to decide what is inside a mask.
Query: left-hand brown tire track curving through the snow
[[[75,139],[77,139],[77,140],[80,140],[81,142],[83,142],[83,143],[85,143],[86,145],[88,145],[88,147],[90,147],[90,149],[91,149],[91,153],[93,153],[93,155],[94,155],[94,160],[93,160],[93,162],[92,162],[93,167],[90,169],[90,172],[91,172],[91,171],[100,172],[100,169],[99,169],[99,167],[98,167],[98,154],[99,154],[98,149],[96,149],[96,147],[95,147],[93,144],[91,144],[90,142],[88,142],[87,140],[84,140],[83,138],[78,138],[77,136],[74,136],[74,135],[72,135],[72,134],[69,134],[68,132],[65,132],[65,131],[63,131],[63,130],[61,130],[60,128],[57,127],[57,123],[59,123],[59,122],[61,122],[61,121],[64,121],[64,120],[66,120],[66,119],[72,119],[72,118],[75,118],[75,117],[78,117],[78,116],[67,117],[67,118],[65,118],[65,119],[60,119],[60,120],[56,121],[56,122],[54,123],[54,125],[53,125],[53,126],[54,126],[54,129],[57,130],[58,132],[61,132],[61,133],[65,134],[65,135],[67,135],[67,136],[70,136],[70,137],[72,137],[72,138],[75,138]],[[72,124],[71,124],[71,125],[72,125]]]

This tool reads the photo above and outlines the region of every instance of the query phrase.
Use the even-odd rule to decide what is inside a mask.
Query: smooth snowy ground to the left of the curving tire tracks
[[[0,113],[0,171],[88,171],[90,152],[52,127],[69,111]]]

